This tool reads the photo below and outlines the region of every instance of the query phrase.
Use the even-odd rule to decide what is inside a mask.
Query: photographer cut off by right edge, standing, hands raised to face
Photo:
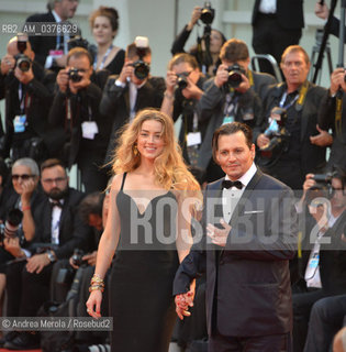
[[[327,167],[334,164],[346,168],[346,82],[345,68],[336,68],[331,75],[331,87],[325,94],[319,113],[319,125],[323,130],[333,130],[333,145]]]

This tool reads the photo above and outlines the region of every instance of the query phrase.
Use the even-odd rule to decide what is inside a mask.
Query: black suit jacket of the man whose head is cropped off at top
[[[252,24],[256,25],[260,0],[253,9]],[[303,0],[277,0],[277,21],[283,29],[299,30],[304,28]]]

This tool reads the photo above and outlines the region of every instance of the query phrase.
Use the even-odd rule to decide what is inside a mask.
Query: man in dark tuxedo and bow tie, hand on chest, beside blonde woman
[[[295,209],[291,189],[257,169],[252,139],[239,122],[215,131],[213,156],[226,176],[207,187],[203,241],[192,246],[174,283],[182,319],[192,305],[190,283],[207,271],[211,352],[291,351]]]

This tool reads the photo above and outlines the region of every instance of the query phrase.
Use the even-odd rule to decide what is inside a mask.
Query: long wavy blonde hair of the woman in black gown
[[[180,147],[175,139],[172,119],[158,110],[144,109],[126,124],[119,138],[119,146],[113,158],[115,174],[132,172],[141,164],[141,154],[136,148],[137,138],[144,121],[155,120],[163,124],[164,151],[154,162],[155,182],[165,189],[199,190],[200,186],[188,170]]]

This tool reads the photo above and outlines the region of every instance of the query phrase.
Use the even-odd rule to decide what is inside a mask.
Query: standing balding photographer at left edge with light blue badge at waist
[[[55,77],[33,63],[34,56],[27,37],[19,34],[10,40],[1,59],[0,98],[5,99],[5,142],[0,151],[3,158],[11,151],[13,161],[29,156],[40,162],[49,147],[44,141]]]

